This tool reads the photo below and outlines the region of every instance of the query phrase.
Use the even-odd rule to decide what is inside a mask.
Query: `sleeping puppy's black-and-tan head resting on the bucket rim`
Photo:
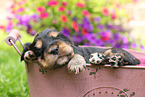
[[[73,42],[56,30],[46,29],[36,35],[31,48],[44,68],[55,68],[73,56]]]

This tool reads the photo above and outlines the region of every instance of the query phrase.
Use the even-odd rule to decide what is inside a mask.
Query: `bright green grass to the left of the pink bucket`
[[[31,42],[32,37],[22,34],[22,41]],[[29,88],[24,62],[12,46],[5,43],[7,34],[0,32],[0,97],[29,97]],[[22,51],[19,42],[16,45]]]

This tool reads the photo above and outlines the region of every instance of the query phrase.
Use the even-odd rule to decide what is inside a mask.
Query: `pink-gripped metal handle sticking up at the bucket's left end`
[[[7,38],[6,38],[6,43],[7,43],[8,45],[10,45],[10,46],[13,45],[13,47],[16,49],[16,51],[18,52],[18,54],[21,56],[21,52],[19,51],[19,49],[18,49],[17,46],[15,45],[15,42],[16,42],[17,40],[19,40],[19,42],[21,43],[21,45],[24,46],[23,43],[22,43],[22,41],[20,40],[20,33],[19,33],[19,31],[16,30],[16,29],[13,29],[13,30],[9,33],[9,35],[7,36]]]

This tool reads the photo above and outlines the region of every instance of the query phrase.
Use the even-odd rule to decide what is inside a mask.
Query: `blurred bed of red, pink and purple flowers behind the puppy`
[[[144,47],[130,36],[130,30],[125,27],[130,17],[122,6],[128,2],[19,0],[10,7],[12,17],[8,18],[6,31],[17,28],[35,35],[36,31],[54,28],[79,45],[140,47],[143,50]]]

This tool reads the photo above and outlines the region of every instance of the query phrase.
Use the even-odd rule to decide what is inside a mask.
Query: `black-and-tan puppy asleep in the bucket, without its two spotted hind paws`
[[[90,63],[90,55],[96,52],[105,54],[105,56],[111,56],[111,54],[114,53],[122,53],[124,54],[123,59],[128,61],[130,64],[140,64],[138,59],[122,49],[78,47],[70,38],[53,29],[45,29],[35,36],[32,43],[27,43],[26,47],[24,47],[21,61],[37,60],[44,69],[55,69],[68,64],[68,70],[78,74],[85,70],[86,63]],[[33,57],[30,57],[30,55],[33,55]]]

